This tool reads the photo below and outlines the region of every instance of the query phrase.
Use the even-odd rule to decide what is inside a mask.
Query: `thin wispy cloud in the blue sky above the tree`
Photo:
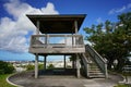
[[[131,3],[127,4],[127,5],[123,5],[121,8],[118,8],[118,9],[111,9],[108,14],[115,14],[115,13],[122,13],[124,11],[128,11],[131,9]]]

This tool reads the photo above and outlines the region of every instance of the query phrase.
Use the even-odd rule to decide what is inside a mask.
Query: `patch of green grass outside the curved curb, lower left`
[[[15,86],[10,85],[10,84],[7,82],[7,77],[8,77],[9,75],[10,75],[10,74],[0,75],[0,87],[15,87]]]

